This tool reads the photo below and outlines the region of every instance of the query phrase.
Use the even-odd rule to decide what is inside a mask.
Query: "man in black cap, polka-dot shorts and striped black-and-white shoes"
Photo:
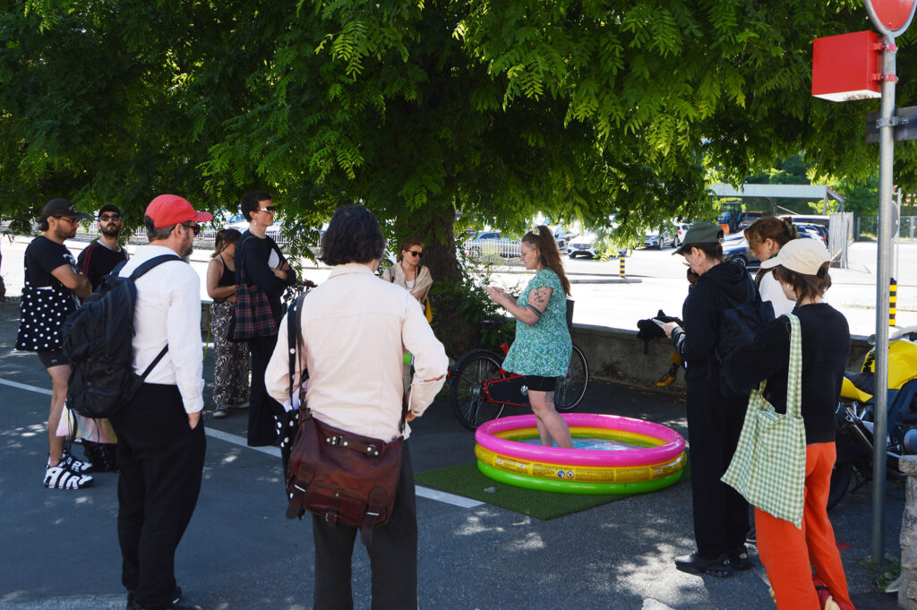
[[[70,360],[63,353],[61,327],[81,298],[93,292],[85,275],[76,271],[76,261],[63,242],[76,235],[80,221],[88,214],[79,212],[66,199],[51,199],[41,210],[39,227],[44,231],[26,249],[26,283],[19,305],[19,332],[16,349],[34,351],[48,370],[53,394],[48,416],[48,464],[45,487],[83,489],[93,484],[86,474],[90,464],[76,460],[57,436],[61,413],[67,400]]]

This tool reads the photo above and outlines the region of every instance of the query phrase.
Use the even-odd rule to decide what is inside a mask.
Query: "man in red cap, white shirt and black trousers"
[[[118,542],[128,610],[193,610],[178,605],[175,549],[191,521],[204,471],[204,364],[201,285],[179,257],[191,254],[199,222],[185,199],[161,194],[147,207],[149,246],[118,273],[171,255],[137,279],[134,371],[149,372],[130,403],[111,418],[118,436]]]

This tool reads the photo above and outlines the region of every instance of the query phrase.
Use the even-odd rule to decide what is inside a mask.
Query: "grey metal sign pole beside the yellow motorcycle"
[[[883,38],[894,48],[895,39]],[[875,428],[872,460],[872,560],[885,563],[885,469],[889,405],[889,278],[891,276],[891,190],[895,139],[891,117],[895,114],[895,51],[882,53],[882,107],[878,152],[878,249],[876,278]]]

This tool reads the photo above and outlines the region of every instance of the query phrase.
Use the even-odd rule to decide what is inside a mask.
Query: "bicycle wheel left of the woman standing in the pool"
[[[450,397],[458,422],[470,430],[503,415],[503,405],[494,405],[481,394],[481,382],[500,376],[499,356],[488,349],[474,349],[458,360]]]

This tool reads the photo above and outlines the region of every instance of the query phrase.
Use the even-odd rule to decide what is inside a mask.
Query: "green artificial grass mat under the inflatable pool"
[[[679,482],[675,484],[678,485],[689,478],[690,472],[688,467],[685,466],[684,473],[681,475]],[[579,513],[594,506],[606,505],[615,500],[623,500],[634,495],[555,494],[553,492],[524,489],[485,477],[474,462],[448,466],[436,471],[417,472],[414,474],[414,481],[428,487],[441,489],[450,494],[464,495],[467,498],[500,506],[516,513],[534,516],[536,519],[542,519],[543,521],[558,516]],[[492,492],[485,491],[487,489],[492,490]]]

